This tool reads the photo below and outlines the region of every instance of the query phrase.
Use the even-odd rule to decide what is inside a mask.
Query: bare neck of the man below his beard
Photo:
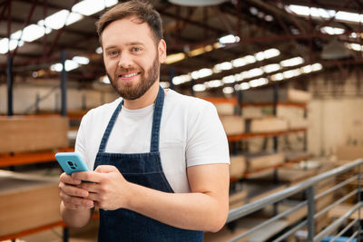
[[[135,100],[124,100],[123,105],[126,109],[137,110],[152,105],[155,102],[156,96],[159,92],[159,82],[154,82],[147,92],[140,98]]]

